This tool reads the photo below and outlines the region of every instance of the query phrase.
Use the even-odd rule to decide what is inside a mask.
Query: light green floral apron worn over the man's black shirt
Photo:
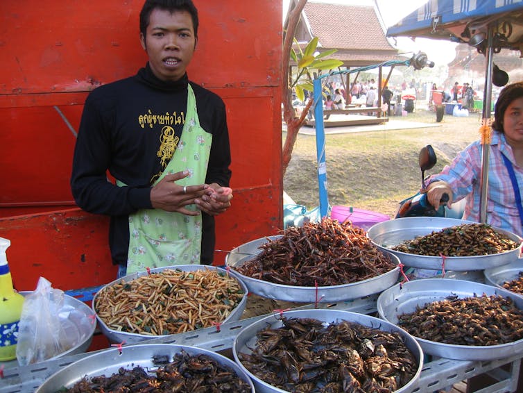
[[[196,99],[188,85],[187,115],[178,147],[159,182],[167,174],[189,171],[178,185],[205,183],[212,135],[200,127]],[[123,185],[119,183],[119,185]],[[200,212],[196,205],[186,206]],[[161,209],[142,209],[129,216],[129,251],[127,274],[147,268],[200,263],[202,215],[183,215]]]

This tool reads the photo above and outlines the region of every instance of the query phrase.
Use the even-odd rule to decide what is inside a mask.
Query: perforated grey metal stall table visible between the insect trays
[[[454,276],[453,276],[454,274]],[[468,279],[470,281],[483,281],[482,271],[468,272],[449,272],[445,278]],[[376,302],[378,294],[366,296],[361,299],[352,301],[343,301],[337,303],[318,303],[318,308],[329,308],[334,310],[346,310],[352,312],[361,312],[363,314],[372,314],[376,312]],[[294,308],[311,309],[315,308],[314,304],[299,306]],[[242,328],[258,321],[267,315],[259,315],[247,319],[241,319],[235,322],[229,322],[217,328],[203,328],[198,331],[171,335],[169,337],[155,338],[146,340],[143,344],[178,344],[185,346],[197,346],[222,353],[225,356],[232,357],[232,344],[237,333]],[[125,351],[125,345],[122,348]],[[98,351],[96,351],[98,352]],[[46,378],[53,375],[60,368],[70,365],[76,360],[85,358],[95,352],[82,353],[74,356],[67,356],[58,360],[49,360],[47,362],[28,365],[25,367],[7,367],[3,369],[3,378],[0,378],[0,393],[31,393],[40,386]],[[517,389],[517,378],[520,372],[520,363],[523,353],[511,356],[509,358],[490,360],[490,361],[468,361],[468,360],[451,360],[451,359],[431,359],[425,362],[418,383],[405,393],[423,393],[434,392],[445,389],[464,381],[473,376],[489,374],[498,381],[497,383],[478,390],[476,393],[502,393],[515,392]],[[501,367],[510,365],[510,371],[505,371]]]

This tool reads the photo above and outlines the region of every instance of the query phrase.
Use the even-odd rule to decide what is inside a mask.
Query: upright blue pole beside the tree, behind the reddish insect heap
[[[320,215],[327,217],[329,197],[327,195],[327,165],[325,164],[325,128],[323,128],[323,101],[321,80],[314,79],[314,120],[316,124],[316,157],[318,158],[318,186],[320,192]]]

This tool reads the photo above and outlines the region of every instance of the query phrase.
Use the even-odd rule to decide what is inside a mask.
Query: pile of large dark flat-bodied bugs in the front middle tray
[[[397,333],[350,321],[325,326],[310,318],[282,318],[257,333],[241,364],[288,392],[393,392],[409,383],[418,362]]]

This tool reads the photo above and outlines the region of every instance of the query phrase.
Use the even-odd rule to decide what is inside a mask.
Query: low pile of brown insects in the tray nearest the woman
[[[461,224],[407,240],[393,250],[422,256],[484,256],[517,249],[519,243],[483,223]]]

